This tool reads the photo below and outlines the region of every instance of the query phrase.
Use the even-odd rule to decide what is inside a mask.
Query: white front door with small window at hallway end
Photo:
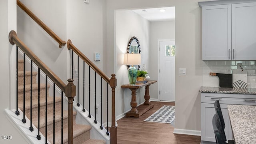
[[[160,100],[175,101],[175,41],[160,41]]]

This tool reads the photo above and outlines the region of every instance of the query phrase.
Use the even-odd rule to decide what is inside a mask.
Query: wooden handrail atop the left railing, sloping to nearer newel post
[[[18,38],[14,30],[9,33],[9,42],[16,44],[65,93],[66,84]]]

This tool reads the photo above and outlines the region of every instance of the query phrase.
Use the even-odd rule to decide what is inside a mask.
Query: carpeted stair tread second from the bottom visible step
[[[80,136],[84,132],[87,132],[91,129],[92,127],[89,125],[82,125],[82,124],[74,124],[73,125],[73,138],[76,138],[77,136]],[[53,139],[53,134],[48,135],[48,140]],[[63,143],[68,142],[68,128],[63,129]],[[55,133],[55,144],[60,144],[61,143],[61,132],[58,134]]]

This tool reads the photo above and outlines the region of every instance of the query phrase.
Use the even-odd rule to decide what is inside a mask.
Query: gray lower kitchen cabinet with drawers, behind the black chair
[[[215,114],[214,102],[219,100],[224,122],[225,134],[232,140],[232,129],[228,116],[228,104],[256,105],[255,94],[226,94],[226,93],[201,93],[201,144],[214,144],[215,137],[212,128],[212,117]]]

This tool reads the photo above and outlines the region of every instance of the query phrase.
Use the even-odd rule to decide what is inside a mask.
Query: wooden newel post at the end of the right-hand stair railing
[[[110,128],[110,144],[117,144],[117,128],[116,128],[116,103],[115,103],[115,88],[116,88],[116,75],[111,74],[110,86],[112,88],[112,116]]]

